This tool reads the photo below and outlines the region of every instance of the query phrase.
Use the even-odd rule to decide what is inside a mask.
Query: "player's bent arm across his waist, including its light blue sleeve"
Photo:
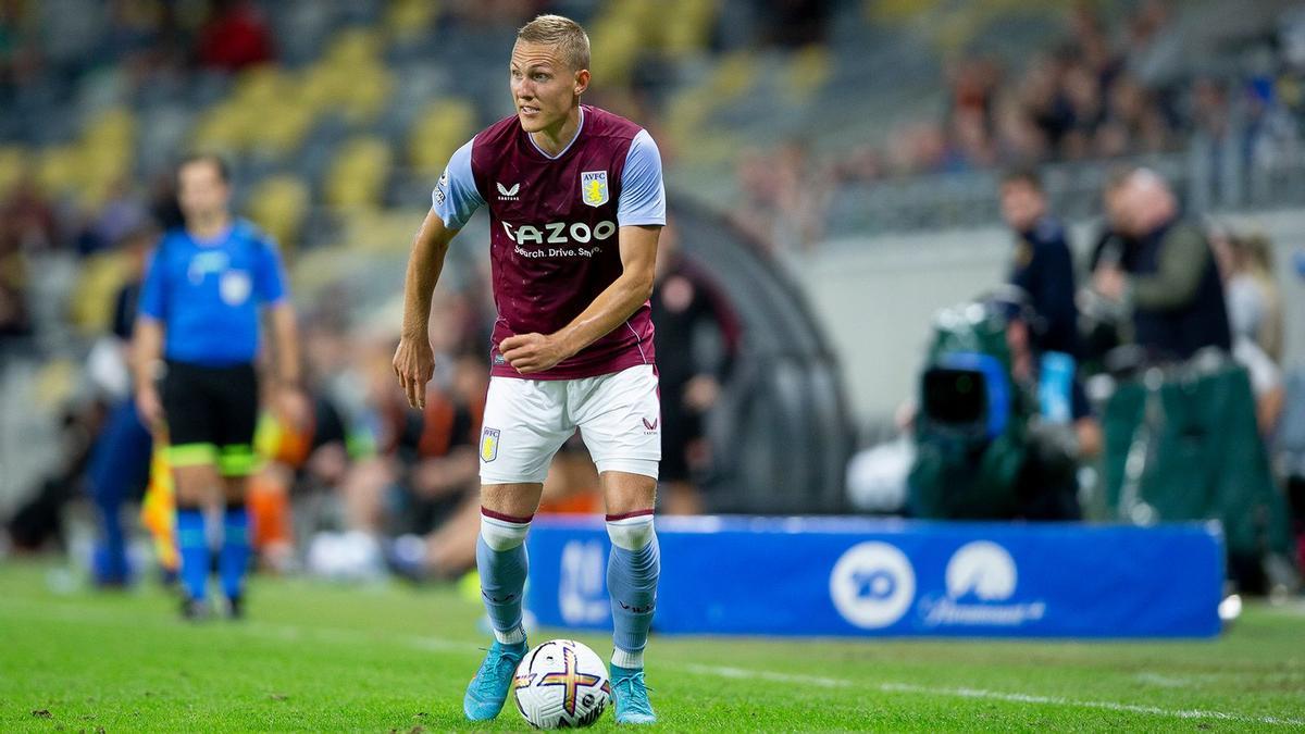
[[[621,274],[598,298],[552,334],[515,334],[499,351],[522,375],[543,372],[594,343],[629,320],[649,296],[656,266],[656,242],[666,225],[662,157],[647,131],[630,142],[616,212]]]

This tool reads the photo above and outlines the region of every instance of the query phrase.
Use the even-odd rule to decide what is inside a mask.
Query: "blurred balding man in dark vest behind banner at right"
[[[1207,346],[1232,351],[1223,283],[1205,232],[1180,217],[1177,199],[1154,171],[1134,171],[1118,196],[1131,247],[1120,264],[1098,264],[1098,293],[1131,304],[1134,341],[1154,358],[1188,359]]]

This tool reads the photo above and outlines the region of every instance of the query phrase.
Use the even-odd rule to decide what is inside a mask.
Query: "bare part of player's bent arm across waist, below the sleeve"
[[[552,334],[515,334],[499,351],[522,375],[543,372],[624,324],[652,295],[658,225],[621,227],[621,276],[598,294],[579,316]]]

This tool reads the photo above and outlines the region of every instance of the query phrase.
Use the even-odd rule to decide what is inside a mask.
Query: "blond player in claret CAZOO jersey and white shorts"
[[[435,362],[432,290],[449,242],[488,206],[499,319],[480,436],[476,567],[495,643],[463,699],[474,721],[499,714],[526,653],[523,543],[549,460],[577,427],[598,466],[612,539],[616,721],[656,721],[643,683],[660,571],[649,295],[666,193],[649,133],[579,103],[587,67],[589,37],[568,18],[540,16],[517,33],[509,65],[517,114],[453,154],[408,261],[394,371],[422,407]]]

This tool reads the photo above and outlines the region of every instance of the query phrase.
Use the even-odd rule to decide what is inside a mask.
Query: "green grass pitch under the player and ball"
[[[52,575],[0,566],[0,731],[470,727],[462,691],[487,641],[450,588],[258,580],[249,619],[194,626],[161,589],[55,592]],[[548,636],[569,635],[531,641]],[[1251,606],[1215,641],[655,637],[649,650],[673,731],[1305,730],[1301,602]],[[510,703],[476,726],[525,727]]]

